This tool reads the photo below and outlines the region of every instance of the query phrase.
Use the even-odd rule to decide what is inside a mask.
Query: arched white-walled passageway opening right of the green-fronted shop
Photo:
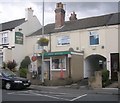
[[[94,75],[95,71],[100,71],[106,68],[106,58],[102,55],[90,55],[85,59],[84,63],[84,78],[89,78]]]

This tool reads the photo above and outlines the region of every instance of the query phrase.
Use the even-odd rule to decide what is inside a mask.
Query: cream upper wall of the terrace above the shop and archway
[[[89,31],[96,30],[99,34],[99,45],[91,46],[89,43]],[[69,35],[70,44],[67,46],[57,46],[57,36]],[[77,31],[67,31],[61,33],[55,33],[51,36],[51,49],[52,51],[66,51],[72,47],[76,51],[84,50],[84,59],[90,55],[101,55],[107,60],[107,69],[110,70],[110,53],[118,53],[118,26],[104,26],[89,28]],[[104,48],[102,48],[104,46]],[[88,62],[85,64],[84,77],[90,75]]]

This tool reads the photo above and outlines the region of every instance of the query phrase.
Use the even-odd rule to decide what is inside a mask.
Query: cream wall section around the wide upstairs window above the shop
[[[57,37],[60,36],[69,36],[70,44],[64,46],[57,45]],[[51,51],[67,51],[69,48],[73,48],[76,51],[76,48],[80,48],[80,36],[77,31],[69,31],[69,32],[60,32],[51,35]]]

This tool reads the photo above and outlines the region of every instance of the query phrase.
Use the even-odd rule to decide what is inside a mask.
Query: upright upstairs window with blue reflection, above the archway
[[[99,44],[99,35],[97,31],[89,32],[90,45],[98,45]]]

